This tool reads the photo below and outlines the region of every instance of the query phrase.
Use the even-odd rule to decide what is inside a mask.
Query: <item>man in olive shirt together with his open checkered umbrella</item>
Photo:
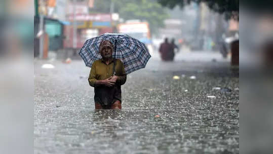
[[[124,33],[90,38],[79,55],[91,67],[88,81],[95,88],[95,109],[121,109],[126,75],[145,68],[151,57],[142,42]]]

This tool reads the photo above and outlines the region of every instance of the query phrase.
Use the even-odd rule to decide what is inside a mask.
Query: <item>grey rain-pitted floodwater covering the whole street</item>
[[[188,56],[129,74],[122,110],[94,110],[83,61],[35,59],[34,153],[239,153],[238,68]]]

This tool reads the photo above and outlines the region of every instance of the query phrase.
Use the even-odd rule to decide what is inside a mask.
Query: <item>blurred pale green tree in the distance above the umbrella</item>
[[[90,13],[109,13],[111,1],[114,3],[114,12],[120,14],[125,20],[139,19],[147,21],[151,33],[164,26],[164,20],[169,17],[165,8],[157,0],[96,0]]]

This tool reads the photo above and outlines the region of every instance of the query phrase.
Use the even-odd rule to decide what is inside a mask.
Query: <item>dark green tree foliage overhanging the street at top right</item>
[[[198,4],[204,2],[211,10],[224,14],[227,19],[235,18],[239,20],[239,0],[158,0],[158,2],[170,9],[177,5],[183,8],[191,2]]]

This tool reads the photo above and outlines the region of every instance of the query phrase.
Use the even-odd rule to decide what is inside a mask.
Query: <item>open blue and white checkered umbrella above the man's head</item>
[[[123,33],[105,33],[87,40],[80,50],[86,66],[91,67],[95,60],[101,59],[99,45],[102,40],[108,40],[114,45],[113,58],[120,59],[126,74],[144,68],[151,55],[146,46],[129,35]]]

